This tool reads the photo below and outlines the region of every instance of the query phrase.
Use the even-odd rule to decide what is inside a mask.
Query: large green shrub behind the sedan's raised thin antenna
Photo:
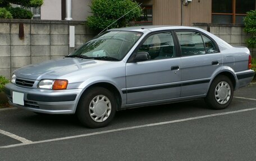
[[[103,30],[136,6],[138,6],[138,3],[133,0],[92,0],[90,8],[93,16],[88,17],[87,24],[94,30]],[[109,26],[109,29],[125,27],[129,21],[140,17],[140,15],[141,8],[137,7],[115,22],[115,24]]]

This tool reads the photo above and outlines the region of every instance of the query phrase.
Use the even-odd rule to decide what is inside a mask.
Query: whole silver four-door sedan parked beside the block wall
[[[254,76],[248,48],[195,27],[112,29],[68,56],[13,72],[10,104],[36,113],[77,114],[108,125],[116,111],[204,98],[224,109]]]

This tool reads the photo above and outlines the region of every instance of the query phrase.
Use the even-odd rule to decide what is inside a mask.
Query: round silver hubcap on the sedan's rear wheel
[[[227,82],[221,81],[215,88],[215,99],[220,104],[228,102],[231,96],[230,85]]]

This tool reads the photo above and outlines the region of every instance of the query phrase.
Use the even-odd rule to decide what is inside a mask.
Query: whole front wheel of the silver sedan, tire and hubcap
[[[105,88],[95,87],[81,96],[76,115],[84,126],[98,128],[107,126],[112,121],[116,109],[115,96]]]

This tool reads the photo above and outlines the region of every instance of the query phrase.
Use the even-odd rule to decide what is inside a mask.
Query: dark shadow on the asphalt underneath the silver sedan
[[[123,127],[124,125],[132,126],[133,124],[141,125],[144,123],[169,121],[171,118],[178,119],[181,117],[189,117],[191,113],[198,113],[202,111],[202,109],[208,109],[203,99],[126,109],[116,112],[116,116],[109,127]],[[20,121],[26,125],[41,128],[84,128],[76,115],[36,114],[31,112],[26,116],[20,116]]]

